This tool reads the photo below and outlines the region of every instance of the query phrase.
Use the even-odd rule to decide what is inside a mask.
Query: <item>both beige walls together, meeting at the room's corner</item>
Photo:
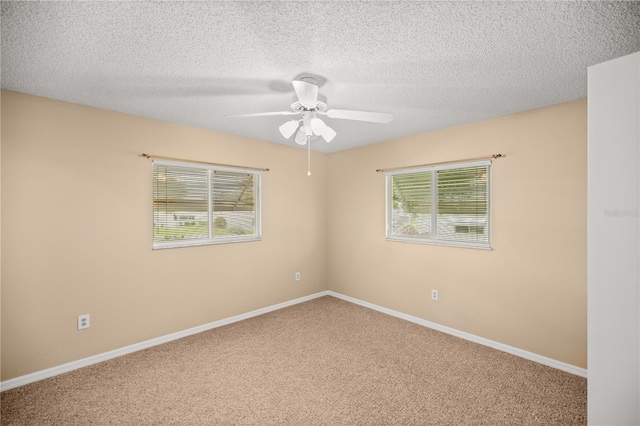
[[[1,379],[326,289],[586,367],[586,107],[313,153],[307,177],[302,149],[3,91]],[[152,251],[142,152],[269,167],[263,240]],[[384,240],[377,168],[498,152],[492,251]]]

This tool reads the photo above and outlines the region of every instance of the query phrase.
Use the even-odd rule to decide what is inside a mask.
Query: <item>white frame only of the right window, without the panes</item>
[[[463,169],[468,167],[476,167],[476,166],[487,166],[488,168],[488,176],[487,176],[487,242],[486,243],[477,243],[477,242],[466,242],[466,241],[450,241],[450,240],[442,240],[438,239],[438,226],[437,226],[437,212],[438,212],[438,171],[439,170],[451,170],[451,169]],[[393,188],[391,188],[391,178],[396,175],[402,174],[412,174],[412,173],[421,173],[421,172],[431,172],[431,238],[411,238],[411,237],[402,237],[399,235],[392,235],[392,211],[393,211]],[[470,162],[459,162],[459,163],[447,163],[433,166],[424,166],[424,167],[416,167],[416,168],[407,168],[401,170],[393,170],[385,173],[385,226],[386,226],[386,236],[385,239],[387,241],[398,241],[398,242],[408,242],[408,243],[417,243],[417,244],[429,244],[429,245],[440,245],[440,246],[450,246],[450,247],[464,247],[464,248],[474,248],[481,250],[491,250],[491,160],[477,160]]]

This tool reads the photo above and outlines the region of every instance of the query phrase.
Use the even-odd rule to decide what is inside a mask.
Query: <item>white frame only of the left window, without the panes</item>
[[[229,244],[229,243],[240,243],[240,242],[250,242],[250,241],[260,241],[262,240],[262,214],[261,214],[261,193],[262,193],[262,173],[260,171],[254,169],[243,169],[240,167],[223,167],[223,166],[214,166],[207,165],[203,163],[190,163],[186,161],[172,161],[172,160],[159,160],[154,159],[152,161],[152,175],[153,175],[153,165],[166,165],[166,166],[179,166],[179,167],[188,167],[192,169],[200,169],[207,170],[207,221],[209,224],[209,238],[198,239],[198,240],[169,240],[169,241],[155,241],[154,239],[154,227],[155,227],[155,218],[154,216],[154,208],[153,202],[154,194],[152,188],[152,234],[151,239],[153,241],[153,249],[168,249],[168,248],[177,248],[177,247],[196,247],[196,246],[207,246],[207,245],[216,245],[216,244]],[[231,173],[242,173],[242,174],[251,174],[254,177],[254,186],[255,186],[255,233],[250,235],[231,235],[225,237],[214,237],[213,236],[213,197],[212,188],[211,188],[211,174],[214,172],[231,172]],[[152,186],[154,186],[154,177],[152,176]]]

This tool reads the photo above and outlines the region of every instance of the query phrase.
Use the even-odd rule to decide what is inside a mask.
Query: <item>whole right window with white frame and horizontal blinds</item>
[[[490,248],[490,161],[387,172],[387,239]]]

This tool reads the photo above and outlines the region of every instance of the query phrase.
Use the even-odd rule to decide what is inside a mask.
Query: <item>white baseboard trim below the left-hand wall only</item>
[[[172,340],[191,336],[192,334],[197,334],[203,331],[211,330],[212,328],[222,327],[223,325],[228,325],[228,324],[242,321],[258,315],[266,314],[268,312],[276,311],[278,309],[286,308],[288,306],[297,305],[298,303],[308,302],[309,300],[316,299],[322,296],[327,296],[328,294],[329,293],[327,291],[321,291],[319,293],[311,294],[309,296],[304,296],[297,299],[289,300],[287,302],[278,303],[277,305],[256,309],[255,311],[247,312],[245,314],[240,314],[233,317],[221,319],[218,321],[211,322],[209,324],[200,325],[198,327],[189,328],[187,330],[178,331],[176,333],[167,334],[165,336],[156,337],[154,339],[145,340],[144,342],[135,343],[133,345],[125,346],[123,348],[114,349],[112,351],[104,352],[98,355],[93,355],[88,358],[79,359],[77,361],[71,361],[66,364],[58,365],[56,367],[51,367],[45,370],[40,370],[34,373],[26,374],[24,376],[15,377],[13,379],[0,382],[0,392],[17,388],[20,386],[24,386],[29,383],[37,382],[39,380],[48,379],[49,377],[54,377],[59,374],[67,373],[69,371],[77,370],[78,368],[87,367],[92,364],[97,364],[102,361],[107,361],[109,359],[117,358],[122,355],[127,355],[132,352],[137,352],[153,346],[161,345],[163,343],[167,343]]]

